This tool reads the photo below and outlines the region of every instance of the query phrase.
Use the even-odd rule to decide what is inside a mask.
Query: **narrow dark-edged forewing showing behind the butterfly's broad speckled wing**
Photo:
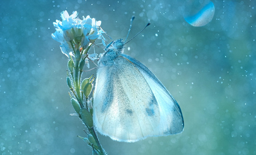
[[[129,59],[136,68],[140,70],[140,73],[143,74],[143,77],[150,86],[159,105],[161,125],[164,130],[162,134],[171,135],[182,132],[184,128],[183,115],[180,106],[173,96],[171,96],[170,92],[168,92],[156,76],[145,65],[140,63],[140,61],[126,54],[121,54],[121,56]]]

